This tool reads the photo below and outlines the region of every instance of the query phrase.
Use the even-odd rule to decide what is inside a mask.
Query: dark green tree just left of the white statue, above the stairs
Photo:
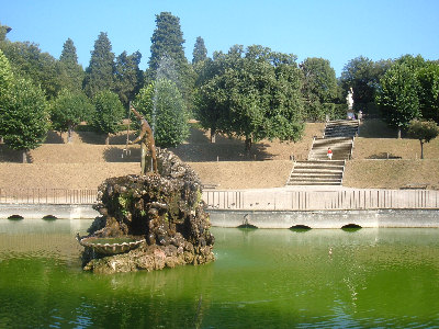
[[[325,103],[334,103],[337,98],[336,71],[329,60],[306,58],[301,64],[303,72],[302,93],[307,120],[324,120]]]

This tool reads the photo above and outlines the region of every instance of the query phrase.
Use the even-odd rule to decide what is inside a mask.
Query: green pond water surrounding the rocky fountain
[[[91,220],[0,220],[0,328],[439,328],[438,229],[221,229],[216,261],[82,272]]]

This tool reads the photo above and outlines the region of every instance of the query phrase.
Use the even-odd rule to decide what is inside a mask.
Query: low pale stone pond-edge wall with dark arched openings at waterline
[[[361,227],[436,227],[439,209],[369,209],[369,211],[229,211],[210,209],[214,227],[255,226],[258,228],[342,228]],[[11,216],[40,219],[55,216],[63,219],[89,219],[99,214],[91,205],[4,205],[0,204],[0,219]]]

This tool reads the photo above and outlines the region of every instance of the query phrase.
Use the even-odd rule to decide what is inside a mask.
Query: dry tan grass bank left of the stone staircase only
[[[262,140],[245,154],[241,139],[218,136],[211,144],[209,132],[192,128],[188,141],[172,150],[203,183],[218,189],[282,186],[292,168],[290,156],[305,159],[312,137],[320,136],[323,129],[324,124],[308,124],[301,141]],[[139,172],[138,145],[130,146],[131,157],[122,158],[126,135],[112,136],[109,146],[102,136],[88,132],[75,133],[71,144],[66,138],[66,134],[50,133],[46,144],[30,151],[30,164],[20,163],[19,152],[0,145],[0,188],[95,189],[109,177]]]

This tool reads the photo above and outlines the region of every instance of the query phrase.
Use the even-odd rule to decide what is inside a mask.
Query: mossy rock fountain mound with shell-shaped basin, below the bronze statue
[[[85,247],[85,270],[153,271],[214,260],[196,173],[169,150],[150,156],[157,163],[154,172],[110,178],[99,186],[94,208],[102,216],[88,236],[77,237]]]

